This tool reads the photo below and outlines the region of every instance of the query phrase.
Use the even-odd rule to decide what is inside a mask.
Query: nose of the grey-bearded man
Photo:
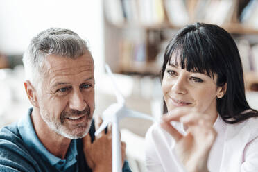
[[[85,110],[87,103],[83,94],[80,90],[73,90],[73,94],[71,94],[71,98],[69,100],[69,107],[71,110]]]

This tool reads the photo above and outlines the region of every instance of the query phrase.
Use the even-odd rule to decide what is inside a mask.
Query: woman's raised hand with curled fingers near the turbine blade
[[[171,121],[180,121],[187,128],[182,135],[171,126]],[[175,153],[189,172],[207,172],[209,151],[216,139],[214,120],[208,114],[180,107],[162,117],[160,125],[175,139]]]

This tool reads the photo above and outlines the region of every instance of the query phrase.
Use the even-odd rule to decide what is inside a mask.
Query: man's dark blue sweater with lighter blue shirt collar
[[[32,108],[19,122],[0,129],[0,171],[1,172],[45,172],[78,171],[92,172],[83,153],[83,140],[71,141],[65,160],[55,157],[38,139],[31,121]],[[94,141],[94,120],[89,135]],[[49,138],[51,139],[51,138]],[[87,158],[87,157],[86,157]],[[128,162],[123,172],[131,172]]]

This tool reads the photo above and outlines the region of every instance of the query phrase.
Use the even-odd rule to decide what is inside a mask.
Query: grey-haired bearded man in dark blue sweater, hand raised
[[[111,131],[94,137],[94,61],[85,41],[49,28],[31,40],[23,62],[33,108],[1,128],[0,171],[112,171]]]

